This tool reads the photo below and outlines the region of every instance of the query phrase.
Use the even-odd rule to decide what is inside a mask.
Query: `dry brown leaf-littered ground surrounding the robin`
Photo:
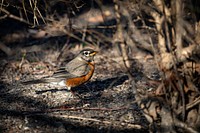
[[[49,45],[52,47],[27,53],[24,58],[19,54],[1,59],[0,132],[148,131],[148,122],[135,102],[132,81],[125,74],[115,48],[99,49],[92,79],[74,88],[82,99],[71,97],[66,88],[22,85],[21,81],[41,78],[55,70],[54,61],[60,48]],[[71,48],[67,59],[80,49]],[[133,53],[133,57],[132,73],[138,88],[140,91],[152,89],[143,74],[158,76],[156,63],[142,53]]]

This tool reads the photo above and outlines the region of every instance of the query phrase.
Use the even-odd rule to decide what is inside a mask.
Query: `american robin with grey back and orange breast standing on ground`
[[[71,91],[72,87],[79,86],[89,81],[92,77],[95,69],[94,56],[96,53],[97,51],[92,49],[84,49],[52,76],[38,80],[25,81],[23,84],[52,83],[59,86],[65,86]]]

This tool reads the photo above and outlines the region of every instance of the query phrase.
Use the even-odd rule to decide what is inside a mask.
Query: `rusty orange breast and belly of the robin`
[[[87,82],[88,80],[90,80],[90,78],[92,77],[92,75],[94,73],[94,63],[88,63],[88,65],[90,67],[90,71],[87,75],[77,77],[77,78],[67,79],[66,85],[68,87],[75,87],[75,86],[79,86],[79,85]]]

